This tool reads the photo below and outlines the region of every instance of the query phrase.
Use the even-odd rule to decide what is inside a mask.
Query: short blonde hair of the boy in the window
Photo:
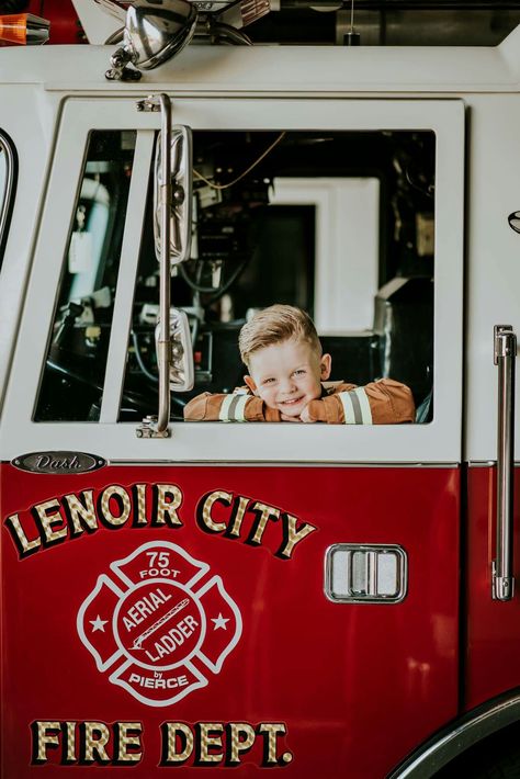
[[[317,355],[321,357],[318,334],[306,312],[296,306],[281,304],[262,308],[244,325],[238,336],[242,362],[249,368],[249,359],[256,351],[292,339],[307,341]]]

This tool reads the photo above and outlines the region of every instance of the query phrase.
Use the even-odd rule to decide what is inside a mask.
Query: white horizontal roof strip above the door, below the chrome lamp
[[[176,97],[263,94],[461,93],[518,91],[520,27],[500,46],[207,46],[190,44],[139,83],[106,81],[116,46],[2,49],[2,80],[47,90]],[[64,68],[64,61],[67,67]]]

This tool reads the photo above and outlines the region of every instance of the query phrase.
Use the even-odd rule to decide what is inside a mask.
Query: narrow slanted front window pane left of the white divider
[[[99,419],[135,138],[126,131],[89,136],[37,421]]]

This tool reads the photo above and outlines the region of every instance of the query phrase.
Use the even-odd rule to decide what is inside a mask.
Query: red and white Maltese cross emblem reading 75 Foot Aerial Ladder
[[[98,670],[148,705],[207,685],[237,645],[237,605],[210,566],[168,541],[143,544],[99,576],[77,629]]]

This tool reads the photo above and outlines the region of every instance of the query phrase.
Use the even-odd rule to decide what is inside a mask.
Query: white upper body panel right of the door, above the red
[[[520,235],[508,215],[520,210],[520,98],[474,97],[468,156],[465,459],[496,460],[497,381],[494,325],[520,340]],[[518,361],[517,361],[518,362]],[[520,452],[517,365],[516,452]]]

